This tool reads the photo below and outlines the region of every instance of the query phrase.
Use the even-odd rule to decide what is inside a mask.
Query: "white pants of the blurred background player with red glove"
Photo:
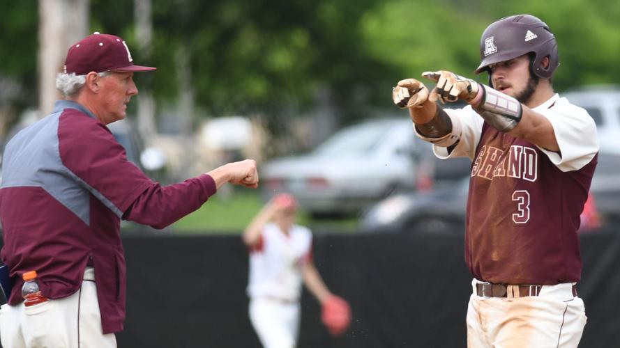
[[[250,299],[250,322],[264,348],[294,348],[300,319],[299,302]]]

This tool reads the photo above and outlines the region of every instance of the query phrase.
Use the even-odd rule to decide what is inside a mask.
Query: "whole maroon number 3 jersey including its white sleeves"
[[[471,106],[446,110],[458,145],[451,152],[433,146],[437,157],[473,161],[465,260],[478,280],[544,285],[580,280],[577,229],[596,167],[596,125],[587,111],[559,95],[534,111],[550,121],[559,152],[497,131]]]

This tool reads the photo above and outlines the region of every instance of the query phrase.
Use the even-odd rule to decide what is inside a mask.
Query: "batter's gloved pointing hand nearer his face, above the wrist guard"
[[[423,72],[423,77],[437,82],[428,98],[431,102],[455,102],[464,100],[471,102],[478,94],[478,83],[472,79],[459,76],[453,72],[439,70]]]

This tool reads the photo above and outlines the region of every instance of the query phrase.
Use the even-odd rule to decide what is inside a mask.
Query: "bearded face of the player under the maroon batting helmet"
[[[489,65],[493,88],[527,103],[538,86],[538,78],[531,76],[529,65],[527,54]]]

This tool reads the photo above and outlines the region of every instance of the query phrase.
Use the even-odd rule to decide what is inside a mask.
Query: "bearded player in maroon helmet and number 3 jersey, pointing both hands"
[[[577,347],[586,315],[577,296],[577,229],[597,163],[587,111],[554,93],[557,42],[531,15],[484,31],[488,85],[441,70],[393,90],[416,134],[439,158],[469,157],[465,260],[474,275],[468,347]],[[444,110],[435,101],[469,106]]]

